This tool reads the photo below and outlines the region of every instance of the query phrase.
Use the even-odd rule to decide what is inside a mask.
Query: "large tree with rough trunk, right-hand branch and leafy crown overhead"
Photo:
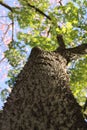
[[[61,1],[58,2],[59,5],[54,6],[53,11],[48,1],[45,1],[46,4],[40,0],[37,3],[31,1],[30,4],[28,0],[20,0],[20,8],[12,8],[0,2],[11,10],[9,15],[12,19],[17,18],[20,27],[31,26],[31,33],[20,32],[18,38],[32,47],[45,49],[32,49],[27,63],[14,82],[14,88],[1,113],[2,130],[87,129],[81,106],[70,90],[67,74],[67,65],[87,54],[86,38],[83,37],[86,36],[85,18],[79,19],[85,16],[85,8],[81,10],[79,6],[83,4],[86,7],[87,2],[76,1],[75,5],[74,1],[65,6]],[[24,15],[26,12],[29,17]],[[82,44],[75,46],[72,41]],[[9,59],[8,53],[6,56]],[[85,59],[84,56],[81,60],[84,62]]]

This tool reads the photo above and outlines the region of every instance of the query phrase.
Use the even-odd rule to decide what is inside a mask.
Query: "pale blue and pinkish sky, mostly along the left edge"
[[[50,0],[50,1],[52,2],[52,4],[55,4],[56,0]],[[66,3],[69,1],[70,0],[63,0],[63,3]],[[19,5],[17,0],[4,0],[4,2],[10,6]],[[57,0],[57,2],[58,2],[58,0]],[[9,11],[8,9],[6,9],[0,5],[0,93],[3,89],[9,88],[8,85],[6,84],[6,81],[9,79],[8,71],[11,69],[11,66],[8,63],[8,60],[7,59],[2,60],[4,58],[4,52],[5,52],[5,50],[8,49],[8,44],[11,40],[11,27],[10,27],[8,33],[5,35],[6,29],[8,27],[8,25],[6,26],[6,24],[11,23],[11,20],[7,17],[8,11]],[[6,17],[2,17],[2,16],[6,16]],[[18,27],[17,24],[16,24],[16,26]],[[14,30],[14,34],[15,34],[15,32],[17,32],[17,29]],[[16,38],[16,36],[15,36],[15,38]],[[31,49],[28,50],[29,53],[30,53],[30,50]],[[29,55],[29,53],[28,53],[28,55]],[[2,106],[3,106],[3,102],[1,101],[1,96],[0,96],[0,109],[2,109]]]

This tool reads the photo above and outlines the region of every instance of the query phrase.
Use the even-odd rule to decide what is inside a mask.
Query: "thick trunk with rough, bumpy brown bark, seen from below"
[[[1,130],[87,130],[69,88],[71,53],[64,51],[32,50],[4,105]]]

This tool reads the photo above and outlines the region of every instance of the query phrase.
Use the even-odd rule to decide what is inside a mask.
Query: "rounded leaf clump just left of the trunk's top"
[[[7,57],[10,65],[16,67],[25,58],[23,46],[19,46],[18,42],[11,42],[9,44],[9,49],[5,51],[5,56]]]

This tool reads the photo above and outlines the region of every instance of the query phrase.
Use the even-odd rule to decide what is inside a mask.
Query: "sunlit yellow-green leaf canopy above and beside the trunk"
[[[57,51],[61,52],[60,50],[62,49],[64,51],[65,47],[71,48],[81,44],[78,50],[77,47],[68,49],[69,56],[73,53],[78,54],[78,57],[82,54],[87,54],[87,45],[85,44],[87,40],[87,2],[85,0],[82,2],[72,1],[65,5],[63,5],[61,1],[56,1],[54,6],[52,6],[49,1],[20,0],[19,2],[20,7],[10,7],[0,2],[1,5],[10,10],[9,17],[13,21],[12,27],[14,25],[14,20],[16,20],[20,28],[27,28],[26,33],[21,31],[17,34],[18,41],[15,41],[12,35],[12,41],[8,46],[9,50],[5,52],[5,56],[8,58],[9,63],[14,67],[14,71],[18,70],[18,67],[20,67],[21,57],[24,54],[24,50],[22,50],[24,45],[29,45],[31,47],[39,46],[49,51],[56,50],[59,46],[60,49]],[[14,30],[14,27],[12,30]],[[67,54],[66,51],[65,53]],[[86,56],[81,57],[77,62],[74,62],[75,58],[77,58],[77,56],[72,59],[67,59],[70,61],[73,60],[68,66],[68,71],[71,76],[71,89],[80,104],[83,105],[86,100],[85,90],[87,87],[85,71],[87,67]],[[10,72],[11,76],[14,71]],[[14,73],[14,77],[17,76],[17,73]],[[8,82],[10,85],[15,84],[14,77]]]

